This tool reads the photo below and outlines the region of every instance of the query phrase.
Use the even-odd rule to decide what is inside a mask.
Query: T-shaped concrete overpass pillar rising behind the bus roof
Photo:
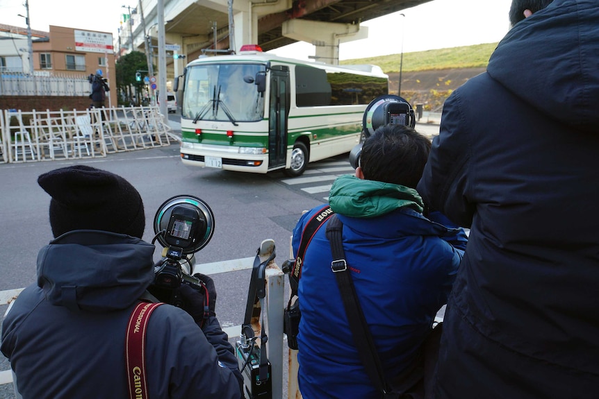
[[[339,64],[339,44],[366,39],[368,26],[337,24],[334,22],[291,19],[282,26],[283,35],[293,40],[316,46],[315,60],[327,64]]]

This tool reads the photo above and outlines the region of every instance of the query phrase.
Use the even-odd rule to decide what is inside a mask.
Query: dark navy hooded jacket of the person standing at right
[[[599,3],[554,0],[455,90],[418,185],[468,249],[437,398],[598,398]]]

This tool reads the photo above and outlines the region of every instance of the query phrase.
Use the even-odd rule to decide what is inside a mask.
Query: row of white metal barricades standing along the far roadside
[[[170,133],[158,107],[72,111],[3,110],[1,160],[35,162],[105,157],[108,153],[167,146]]]

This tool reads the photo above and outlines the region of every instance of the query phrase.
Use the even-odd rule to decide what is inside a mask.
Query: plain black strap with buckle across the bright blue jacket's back
[[[383,393],[383,398],[396,398],[397,395],[391,396],[391,393],[389,393],[375,341],[368,329],[350,269],[347,267],[345,251],[343,251],[343,223],[337,215],[333,215],[327,223],[327,238],[331,244],[331,253],[333,255],[331,270],[337,280],[345,314],[347,314],[347,321],[350,323],[352,337],[354,337],[354,343],[358,349],[358,355],[372,384],[379,392]]]

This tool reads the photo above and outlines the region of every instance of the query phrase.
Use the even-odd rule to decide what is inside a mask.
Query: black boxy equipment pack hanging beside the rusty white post
[[[260,377],[260,347],[250,339],[242,337],[235,344],[235,355],[241,374],[247,399],[272,399],[272,378],[270,362],[267,364],[266,378]]]

